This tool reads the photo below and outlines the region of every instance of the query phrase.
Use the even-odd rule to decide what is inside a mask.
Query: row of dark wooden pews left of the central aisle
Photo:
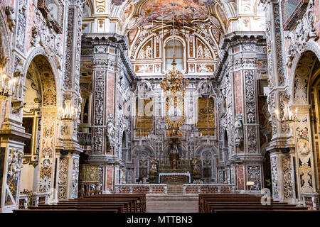
[[[14,210],[14,213],[144,213],[145,211],[145,194],[97,194],[61,200],[55,205],[29,206],[28,209]]]

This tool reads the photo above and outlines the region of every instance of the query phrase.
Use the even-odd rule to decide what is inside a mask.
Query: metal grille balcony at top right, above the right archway
[[[282,0],[282,21],[284,30],[289,30],[309,0]]]

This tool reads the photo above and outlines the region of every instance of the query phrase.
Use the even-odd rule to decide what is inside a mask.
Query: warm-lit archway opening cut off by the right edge
[[[299,56],[292,77],[292,109],[297,109],[297,121],[294,123],[294,143],[296,146],[293,167],[297,177],[297,194],[312,194],[319,188],[319,58],[307,50]],[[317,115],[318,114],[318,115]],[[314,160],[316,157],[316,160]],[[285,185],[290,185],[286,184]],[[292,186],[291,186],[292,187]]]

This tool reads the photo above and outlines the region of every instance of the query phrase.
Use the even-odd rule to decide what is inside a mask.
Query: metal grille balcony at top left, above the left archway
[[[63,31],[63,4],[58,0],[38,0],[38,9],[51,23],[56,33]]]

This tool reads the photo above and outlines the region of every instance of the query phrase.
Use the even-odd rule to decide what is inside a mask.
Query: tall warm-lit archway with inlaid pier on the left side
[[[21,189],[50,192],[57,177],[55,162],[57,89],[48,58],[36,55],[28,65],[23,96],[23,127],[31,133],[26,141]],[[61,163],[60,163],[61,164]],[[38,179],[38,182],[37,182]],[[65,193],[62,191],[61,193]]]

